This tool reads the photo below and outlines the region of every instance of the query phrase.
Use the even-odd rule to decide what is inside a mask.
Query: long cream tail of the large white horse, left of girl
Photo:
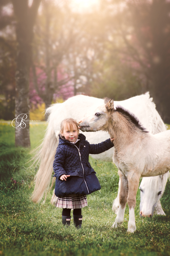
[[[52,107],[46,110],[46,113],[50,113],[52,111]],[[55,136],[55,132],[52,126],[52,119],[48,118],[48,127],[45,133],[44,140],[40,147],[40,150],[35,155],[35,162],[40,163],[40,167],[38,169],[37,174],[35,175],[35,187],[31,199],[38,203],[44,196],[45,199],[47,197],[47,191],[49,190],[51,183],[51,176],[53,172],[52,163],[54,161],[54,156],[56,152],[56,148],[58,145],[58,138]],[[44,200],[45,201],[45,200]]]

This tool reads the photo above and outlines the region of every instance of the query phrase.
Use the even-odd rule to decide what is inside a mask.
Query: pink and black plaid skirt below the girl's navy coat
[[[58,197],[55,206],[58,208],[80,209],[87,206],[87,197],[82,194]]]

